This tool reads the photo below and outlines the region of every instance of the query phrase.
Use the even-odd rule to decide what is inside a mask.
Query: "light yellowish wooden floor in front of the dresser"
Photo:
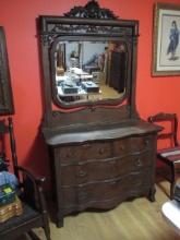
[[[161,216],[168,201],[167,182],[156,185],[156,202],[141,197],[106,213],[81,213],[64,219],[64,227],[50,224],[52,240],[178,240],[175,229]],[[41,239],[43,231],[37,229]]]

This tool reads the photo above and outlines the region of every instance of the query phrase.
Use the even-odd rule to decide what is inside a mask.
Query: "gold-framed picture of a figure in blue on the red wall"
[[[152,75],[180,75],[180,4],[155,4]]]

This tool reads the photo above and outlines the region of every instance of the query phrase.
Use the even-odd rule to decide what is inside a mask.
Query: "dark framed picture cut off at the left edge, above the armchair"
[[[13,113],[14,105],[7,52],[5,34],[3,27],[0,26],[0,116]]]

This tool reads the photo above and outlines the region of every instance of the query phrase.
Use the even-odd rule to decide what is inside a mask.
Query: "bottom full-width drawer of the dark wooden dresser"
[[[91,204],[96,207],[96,203],[101,201],[111,201],[116,197],[122,197],[124,193],[131,190],[135,191],[149,185],[151,179],[147,171],[132,172],[123,178],[99,181],[95,183],[80,184],[76,187],[62,187],[62,197],[65,207],[73,205]]]

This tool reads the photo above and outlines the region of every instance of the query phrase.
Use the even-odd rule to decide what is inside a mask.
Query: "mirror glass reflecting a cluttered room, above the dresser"
[[[59,41],[55,51],[58,98],[71,103],[122,97],[127,61],[122,41]]]

